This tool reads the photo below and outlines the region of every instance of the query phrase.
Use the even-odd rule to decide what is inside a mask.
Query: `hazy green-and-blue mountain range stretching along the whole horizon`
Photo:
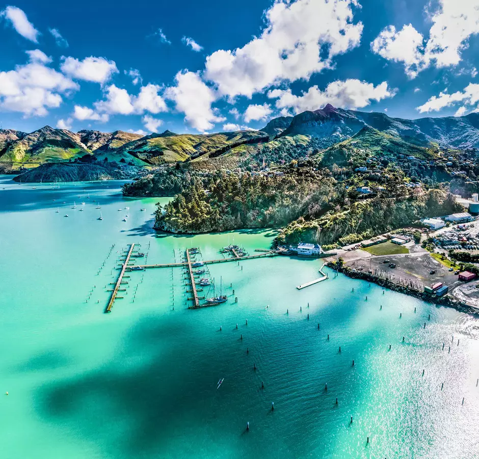
[[[368,130],[364,135],[364,128],[384,135],[371,135]],[[359,133],[362,135],[354,137]],[[301,141],[286,142],[295,138]],[[353,143],[342,143],[348,139],[353,139]],[[409,120],[392,118],[385,113],[344,110],[328,104],[320,110],[274,118],[260,131],[215,134],[165,131],[141,136],[123,131],[83,130],[73,133],[50,126],[32,133],[7,129],[0,130],[0,172],[14,173],[45,163],[72,162],[85,155],[91,155],[96,161],[115,161],[130,166],[157,166],[191,160],[205,165],[216,160],[215,167],[221,167],[218,160],[224,157],[233,158],[237,163],[241,159],[244,164],[268,142],[274,148],[289,148],[291,157],[299,144],[310,142],[315,149],[322,151],[325,164],[331,164],[327,160],[329,152],[332,156],[337,154],[338,147],[331,148],[333,145],[347,146],[350,150],[351,145],[356,149],[378,150],[378,145],[394,144],[395,151],[401,148],[408,151],[417,148],[479,148],[479,113]]]

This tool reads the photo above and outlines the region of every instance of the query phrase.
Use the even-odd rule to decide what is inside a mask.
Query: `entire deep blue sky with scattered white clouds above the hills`
[[[479,104],[479,0],[0,5],[0,122],[26,132],[259,129],[336,107]]]

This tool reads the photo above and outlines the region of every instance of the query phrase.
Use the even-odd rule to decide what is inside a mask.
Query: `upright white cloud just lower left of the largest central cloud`
[[[194,129],[205,132],[212,129],[214,123],[225,120],[212,109],[217,95],[204,84],[198,73],[178,72],[175,82],[176,86],[166,89],[165,97],[175,102],[176,110],[184,113],[184,120]]]

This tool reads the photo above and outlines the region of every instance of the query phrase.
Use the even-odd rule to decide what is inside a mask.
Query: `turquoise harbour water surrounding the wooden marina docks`
[[[120,185],[0,176],[0,457],[479,457],[472,316],[331,271],[298,291],[320,262],[286,257],[210,265],[231,296],[196,311],[181,268],[132,272],[104,314],[131,242],[167,263],[274,237],[155,235],[154,203],[168,199]]]

